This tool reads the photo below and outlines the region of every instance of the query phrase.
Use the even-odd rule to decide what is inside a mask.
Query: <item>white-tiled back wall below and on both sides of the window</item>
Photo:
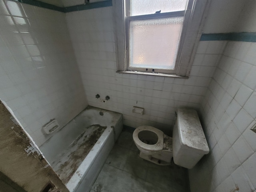
[[[207,49],[200,44],[187,80],[118,74],[112,7],[70,12],[66,19],[89,105],[122,113],[125,125],[151,125],[167,134],[175,108],[199,109],[226,44],[209,42]],[[144,108],[144,115],[133,114],[133,106]]]

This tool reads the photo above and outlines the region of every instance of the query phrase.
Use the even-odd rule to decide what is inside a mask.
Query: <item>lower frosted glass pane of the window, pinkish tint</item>
[[[130,67],[174,69],[183,17],[130,21]]]

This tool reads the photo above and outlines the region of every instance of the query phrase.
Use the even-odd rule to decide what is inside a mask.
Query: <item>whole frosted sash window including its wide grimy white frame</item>
[[[117,2],[118,72],[188,76],[207,1]]]

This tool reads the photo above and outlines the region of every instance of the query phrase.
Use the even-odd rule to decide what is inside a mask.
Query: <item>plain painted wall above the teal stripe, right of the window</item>
[[[203,33],[255,32],[255,0],[211,0]]]

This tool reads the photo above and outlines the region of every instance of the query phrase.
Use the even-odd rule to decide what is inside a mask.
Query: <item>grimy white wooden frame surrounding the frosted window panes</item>
[[[128,0],[129,1],[129,0]],[[127,16],[124,0],[113,0],[114,17],[116,22],[116,50],[117,50],[117,72],[129,74],[144,74],[154,76],[169,76],[188,78],[198,43],[202,34],[202,26],[205,15],[209,8],[210,0],[189,0],[185,11],[159,13],[147,16]],[[129,2],[128,2],[129,3]],[[132,19],[144,19],[146,17],[170,17],[184,16],[184,23],[180,36],[180,43],[176,57],[174,70],[157,70],[154,72],[141,68],[129,68],[129,21]]]

